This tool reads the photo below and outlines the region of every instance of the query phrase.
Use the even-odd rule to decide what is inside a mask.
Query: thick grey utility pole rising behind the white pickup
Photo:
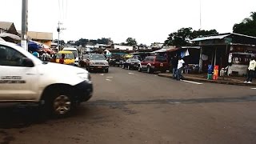
[[[27,38],[27,14],[28,14],[28,0],[22,0],[22,42],[21,46],[25,49],[28,50],[28,46],[26,43],[26,38]]]

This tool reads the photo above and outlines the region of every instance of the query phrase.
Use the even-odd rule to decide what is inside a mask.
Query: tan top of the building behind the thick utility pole
[[[21,34],[21,31],[18,30],[18,33]],[[53,33],[28,31],[27,35],[33,40],[53,40]]]

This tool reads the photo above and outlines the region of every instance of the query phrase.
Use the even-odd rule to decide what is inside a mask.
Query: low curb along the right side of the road
[[[158,74],[159,77],[164,78],[173,78],[172,76],[166,74]],[[236,85],[236,86],[256,86],[255,83],[240,83],[240,82],[223,82],[223,81],[214,81],[214,80],[204,80],[204,79],[197,79],[197,78],[183,78],[187,81],[195,81],[195,82],[208,82],[208,83],[218,83],[218,84],[225,84],[225,85]]]

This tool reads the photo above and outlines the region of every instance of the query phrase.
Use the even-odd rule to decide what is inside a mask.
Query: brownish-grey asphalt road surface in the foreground
[[[1,108],[0,144],[256,143],[256,90],[175,81],[110,67],[93,73],[94,96],[69,118]]]

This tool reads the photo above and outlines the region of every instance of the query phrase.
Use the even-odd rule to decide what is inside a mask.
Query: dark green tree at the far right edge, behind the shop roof
[[[233,32],[256,37],[256,12],[251,12],[250,17],[241,23],[234,24]]]

